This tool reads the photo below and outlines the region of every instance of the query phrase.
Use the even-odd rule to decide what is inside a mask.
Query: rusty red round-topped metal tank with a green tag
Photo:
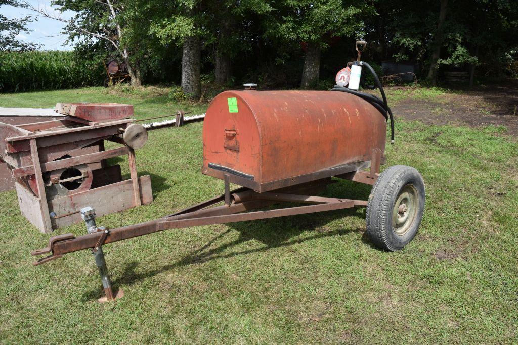
[[[264,192],[365,167],[385,139],[383,115],[355,95],[227,91],[206,112],[202,172]]]

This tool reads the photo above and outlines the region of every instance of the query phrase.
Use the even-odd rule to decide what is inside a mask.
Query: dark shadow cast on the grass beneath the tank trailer
[[[351,186],[354,186],[354,188],[350,188]],[[344,193],[344,187],[349,187],[347,189],[347,193]],[[325,196],[366,200],[368,198],[369,192],[370,186],[344,182],[328,186],[328,190],[325,192]],[[346,195],[344,196],[344,194]],[[280,207],[279,204],[272,208],[278,207]],[[204,263],[214,259],[232,258],[234,256],[262,252],[272,248],[289,247],[304,243],[306,241],[312,241],[313,239],[322,239],[330,236],[343,236],[351,232],[363,232],[364,234],[362,236],[362,242],[365,245],[376,250],[382,250],[370,242],[365,227],[334,231],[328,231],[325,229],[327,223],[344,217],[365,218],[365,209],[349,208],[315,214],[231,223],[229,224],[228,230],[214,236],[202,247],[194,250],[175,263],[164,265],[162,267],[141,273],[135,272],[135,269],[138,266],[137,261],[127,263],[125,267],[121,269],[121,277],[117,280],[114,280],[113,285],[116,286],[116,288],[117,286],[121,285],[131,286],[136,282],[149,279],[150,277],[169,271],[170,269],[174,269],[176,267]],[[283,231],[283,229],[287,230]],[[237,238],[235,241],[227,242],[219,245],[218,247],[209,249],[214,243],[220,241],[232,231],[239,232],[239,238]],[[305,238],[298,238],[302,233],[308,231],[314,231],[316,233]],[[292,239],[294,237],[296,238]],[[226,252],[235,246],[239,246],[249,241],[260,241],[265,246],[261,248]],[[99,290],[87,292],[83,295],[82,300],[84,302],[93,298],[98,298],[100,297],[100,293],[101,291]]]

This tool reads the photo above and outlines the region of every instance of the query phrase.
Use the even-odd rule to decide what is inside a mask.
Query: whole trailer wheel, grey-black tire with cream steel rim
[[[378,247],[405,247],[423,219],[423,177],[412,167],[392,166],[378,177],[367,204],[367,233]]]

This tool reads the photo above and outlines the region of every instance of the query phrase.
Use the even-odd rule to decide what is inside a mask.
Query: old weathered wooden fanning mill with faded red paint
[[[81,221],[90,205],[109,214],[152,201],[149,176],[137,176],[135,151],[147,131],[135,124],[133,106],[57,103],[53,121],[0,123],[0,156],[8,164],[23,216],[41,232]],[[119,147],[105,149],[106,140]],[[107,159],[127,155],[131,178]]]

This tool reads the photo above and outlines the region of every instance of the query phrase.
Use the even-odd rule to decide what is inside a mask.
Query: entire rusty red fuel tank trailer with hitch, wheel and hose
[[[359,61],[359,66],[367,66]],[[367,68],[370,70],[371,68]],[[424,210],[425,189],[414,168],[385,163],[387,106],[383,100],[341,86],[329,91],[227,91],[210,103],[203,127],[202,173],[224,181],[221,196],[171,215],[117,229],[99,228],[95,211],[82,209],[88,234],[50,238],[32,253],[50,253],[34,264],[90,249],[106,295],[113,293],[102,247],[168,229],[367,207],[367,232],[387,250],[404,247],[415,236]],[[394,131],[392,127],[392,139]],[[372,185],[368,200],[315,196],[332,177]],[[231,190],[231,184],[241,186]],[[301,205],[260,209],[290,202]],[[257,210],[258,209],[258,210]]]

